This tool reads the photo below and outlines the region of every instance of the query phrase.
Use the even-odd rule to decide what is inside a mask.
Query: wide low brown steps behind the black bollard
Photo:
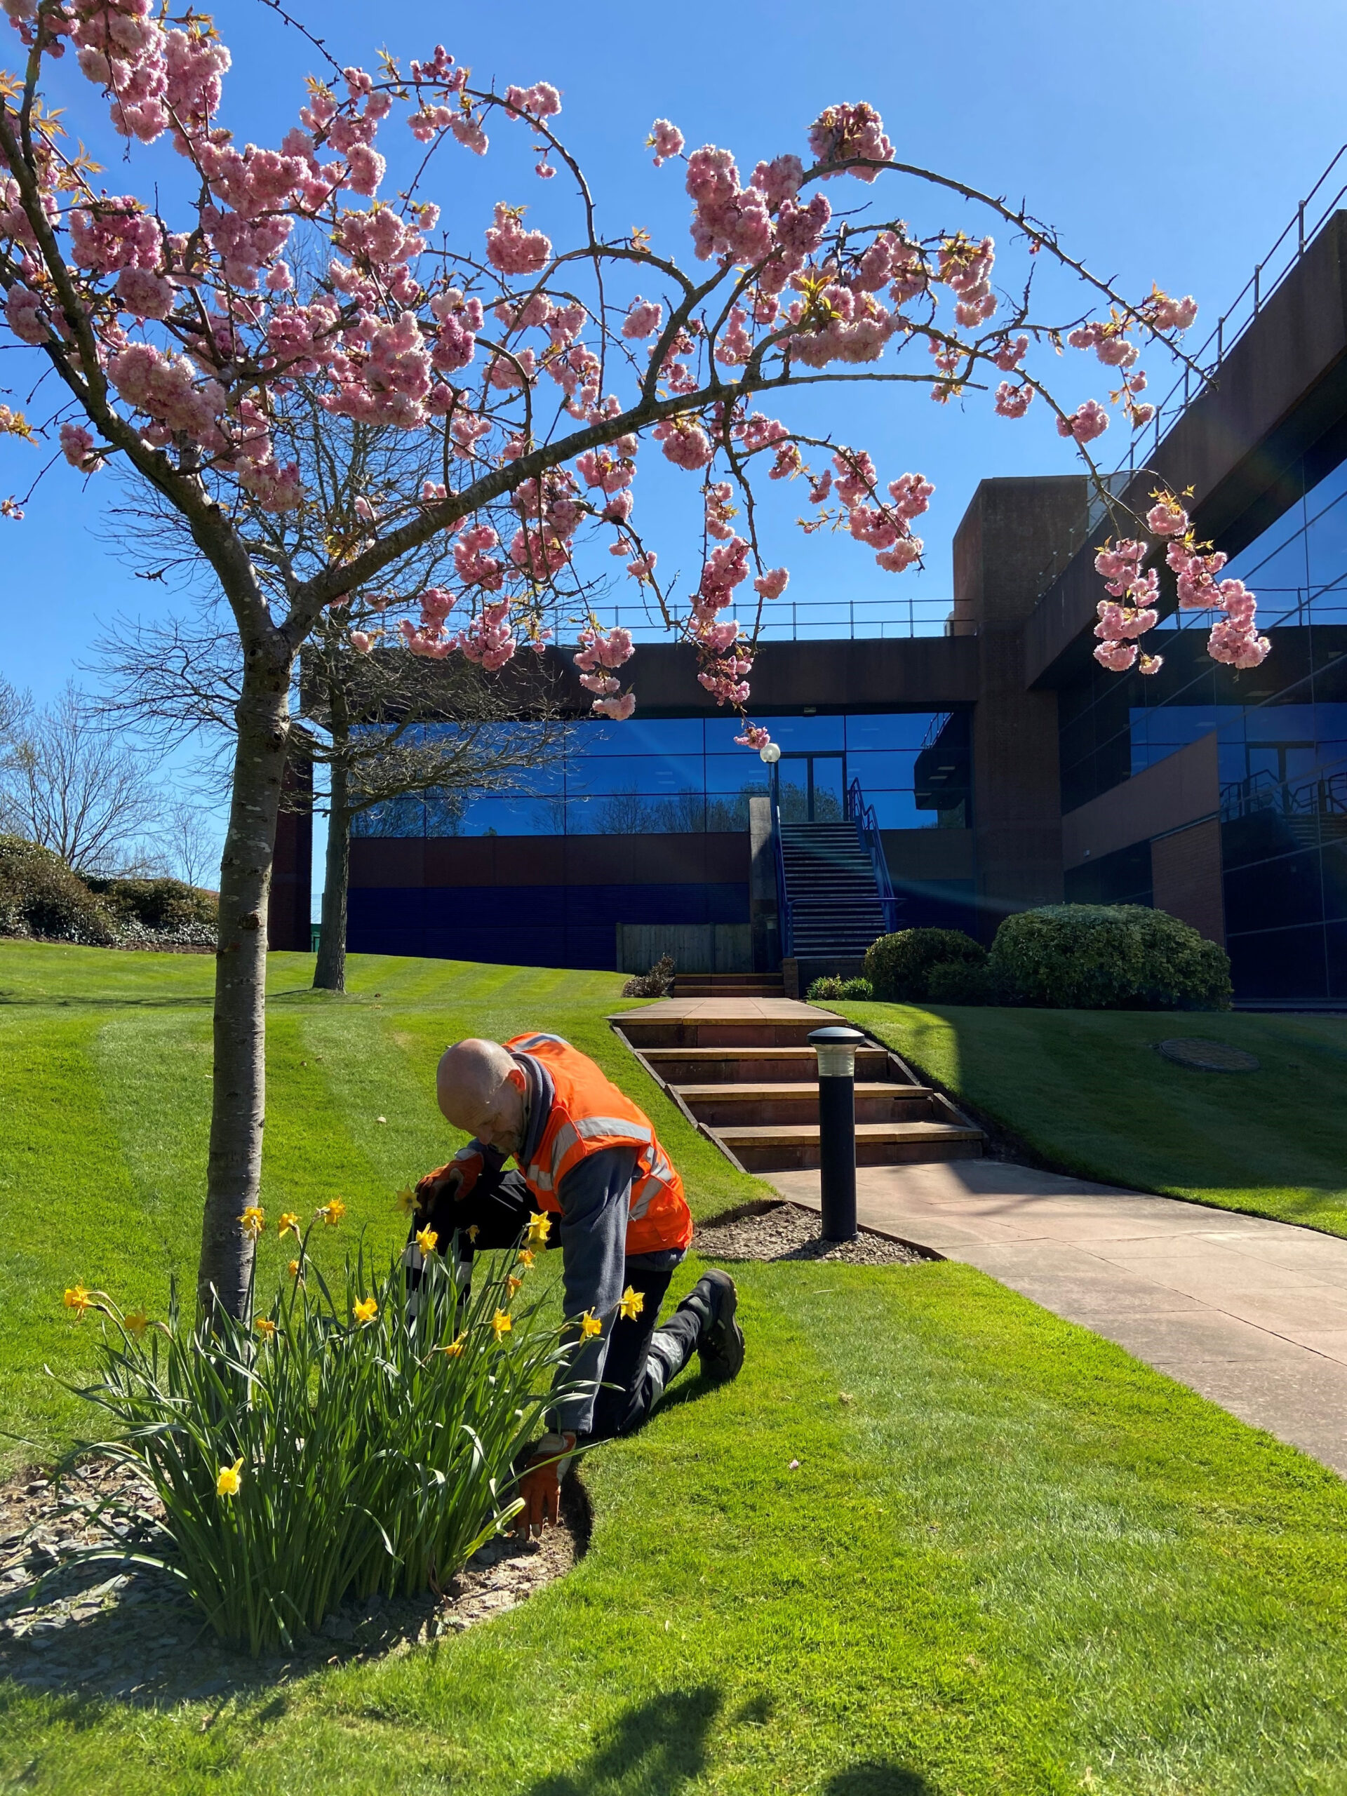
[[[839,1022],[787,1000],[670,999],[611,1017],[614,1031],[688,1121],[747,1173],[819,1164],[810,1029]],[[880,1042],[857,1049],[857,1164],[964,1160],[984,1137]]]

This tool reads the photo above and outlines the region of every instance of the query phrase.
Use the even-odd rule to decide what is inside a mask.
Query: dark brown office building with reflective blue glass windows
[[[753,920],[760,966],[781,898],[762,819],[864,812],[903,923],[990,941],[1029,905],[1146,903],[1227,946],[1237,1002],[1347,1004],[1347,214],[1291,241],[1237,339],[1216,339],[1209,384],[1162,409],[1114,489],[1133,512],[1157,485],[1191,489],[1198,537],[1259,598],[1263,666],[1211,661],[1211,616],[1176,614],[1162,569],[1162,672],[1105,672],[1108,524],[1085,481],[982,481],[943,634],[760,647],[774,772],[735,744],[691,650],[638,647],[627,724],[594,722],[550,650],[569,722],[528,785],[359,821],[350,946],[612,966],[623,925]]]

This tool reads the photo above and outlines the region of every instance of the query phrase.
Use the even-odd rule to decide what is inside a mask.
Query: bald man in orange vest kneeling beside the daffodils
[[[735,1281],[704,1273],[656,1327],[675,1266],[691,1241],[691,1212],[648,1117],[559,1034],[458,1042],[436,1078],[440,1110],[472,1140],[417,1185],[420,1225],[440,1241],[460,1230],[460,1254],[514,1246],[535,1211],[560,1218],[562,1290],[575,1324],[593,1316],[559,1379],[553,1431],[533,1448],[519,1494],[521,1527],[557,1519],[557,1460],[577,1440],[629,1435],[699,1352],[702,1370],[735,1378],[744,1333]],[[517,1171],[505,1171],[514,1158]],[[417,1225],[413,1225],[417,1227]]]

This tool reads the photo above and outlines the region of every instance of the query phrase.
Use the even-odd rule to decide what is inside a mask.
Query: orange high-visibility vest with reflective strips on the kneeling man
[[[585,1155],[605,1148],[636,1148],[627,1255],[688,1246],[691,1211],[682,1194],[682,1180],[659,1146],[650,1119],[587,1054],[559,1034],[517,1034],[505,1045],[515,1054],[541,1060],[557,1094],[530,1164],[521,1162],[519,1167],[539,1207],[560,1216],[557,1187]]]

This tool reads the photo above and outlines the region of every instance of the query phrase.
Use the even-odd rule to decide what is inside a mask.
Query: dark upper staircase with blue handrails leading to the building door
[[[885,932],[885,902],[857,821],[778,823],[778,839],[790,955],[862,955]]]

